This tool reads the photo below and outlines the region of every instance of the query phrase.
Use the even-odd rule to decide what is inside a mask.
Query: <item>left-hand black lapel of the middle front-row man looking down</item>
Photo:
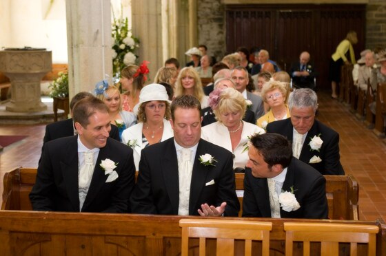
[[[161,158],[163,161],[160,164],[166,191],[172,204],[173,213],[177,214],[179,212],[179,164],[173,138],[165,142],[165,151],[160,153],[164,153],[165,156]]]

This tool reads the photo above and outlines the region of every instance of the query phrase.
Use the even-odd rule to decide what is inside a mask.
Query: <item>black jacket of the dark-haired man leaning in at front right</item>
[[[325,178],[309,165],[292,158],[282,191],[291,191],[300,208],[283,211],[282,218],[327,219],[328,206],[325,194]],[[254,178],[251,169],[245,169],[243,217],[271,217],[270,195],[266,178]]]

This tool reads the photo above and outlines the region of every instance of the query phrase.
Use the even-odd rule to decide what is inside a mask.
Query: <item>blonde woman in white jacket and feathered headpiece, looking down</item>
[[[234,155],[235,171],[245,169],[248,152],[245,151],[249,136],[264,134],[265,131],[249,122],[242,120],[247,108],[243,95],[233,88],[214,90],[210,98],[210,106],[216,115],[217,122],[202,128],[201,138],[219,145]]]

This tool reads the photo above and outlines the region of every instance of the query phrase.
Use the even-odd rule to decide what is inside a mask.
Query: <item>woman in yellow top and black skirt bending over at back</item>
[[[331,60],[329,61],[328,80],[331,81],[332,98],[338,98],[338,95],[336,94],[336,85],[341,81],[341,66],[343,63],[345,65],[350,64],[349,61],[347,61],[347,57],[345,56],[348,51],[351,63],[356,63],[354,48],[352,47],[352,45],[355,45],[356,43],[358,43],[356,32],[349,31],[346,38],[341,41],[341,43],[339,43],[338,47],[336,47],[336,51],[331,56]]]

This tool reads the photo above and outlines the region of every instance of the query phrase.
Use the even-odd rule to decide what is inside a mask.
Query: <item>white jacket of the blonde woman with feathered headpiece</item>
[[[232,142],[230,141],[230,133],[221,122],[214,122],[210,125],[205,125],[201,129],[201,138],[212,142],[213,144],[219,145],[229,151],[234,155],[233,158],[233,169],[240,167],[245,168],[245,164],[248,161],[248,152],[243,150],[245,149],[245,143],[248,142],[248,136],[253,134],[265,134],[264,129],[261,129],[257,125],[251,124],[250,122],[243,121],[243,131],[241,132],[241,140],[238,142],[237,147],[232,151]],[[241,153],[243,152],[243,153]]]

